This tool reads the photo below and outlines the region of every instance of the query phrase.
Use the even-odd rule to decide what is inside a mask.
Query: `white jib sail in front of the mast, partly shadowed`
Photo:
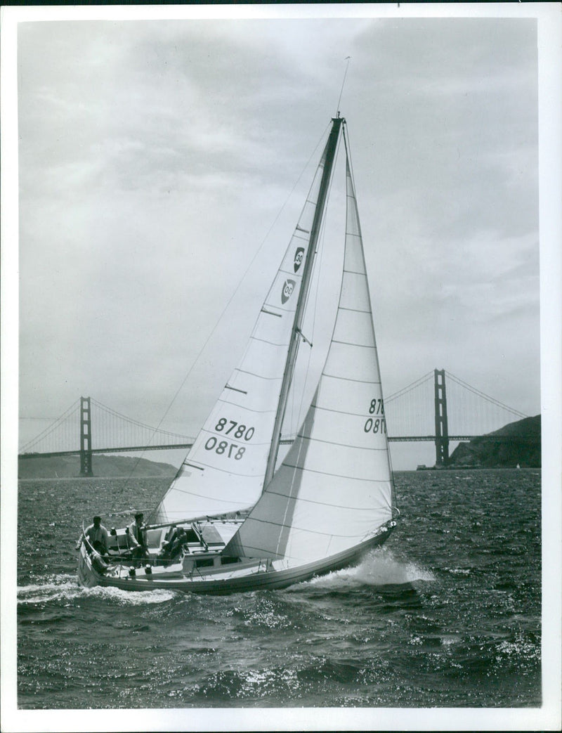
[[[273,480],[225,554],[325,558],[392,518],[393,485],[357,202],[347,162],[344,273],[311,407]]]

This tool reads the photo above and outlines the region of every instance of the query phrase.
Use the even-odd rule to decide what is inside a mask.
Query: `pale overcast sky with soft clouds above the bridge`
[[[81,395],[158,424],[235,293],[163,424],[196,432],[346,56],[385,394],[444,368],[539,413],[534,20],[24,23],[18,54],[21,444]]]

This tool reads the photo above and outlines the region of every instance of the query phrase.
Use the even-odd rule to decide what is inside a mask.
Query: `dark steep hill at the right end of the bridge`
[[[459,443],[448,463],[448,467],[456,468],[515,468],[517,465],[521,468],[541,466],[540,415],[510,422],[470,443]]]

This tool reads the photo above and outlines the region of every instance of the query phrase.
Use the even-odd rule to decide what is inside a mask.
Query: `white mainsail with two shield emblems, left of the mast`
[[[262,493],[324,160],[325,151],[243,358],[152,512],[152,523],[248,509]]]

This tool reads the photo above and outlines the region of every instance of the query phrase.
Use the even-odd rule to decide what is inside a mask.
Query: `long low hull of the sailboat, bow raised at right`
[[[281,589],[355,564],[367,550],[382,545],[395,525],[395,522],[388,522],[374,537],[344,552],[292,567],[283,567],[284,561],[248,560],[235,570],[232,570],[232,565],[225,565],[219,569],[187,573],[182,570],[181,564],[177,564],[153,568],[150,574],[138,569],[135,575],[130,575],[126,567],[119,574],[115,571],[102,573],[92,567],[91,556],[82,545],[78,559],[78,582],[88,588],[106,586],[137,592],[167,589],[187,593],[228,594]]]

